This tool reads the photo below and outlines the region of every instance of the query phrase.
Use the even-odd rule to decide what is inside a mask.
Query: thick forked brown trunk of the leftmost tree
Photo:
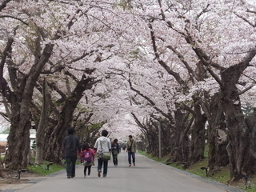
[[[10,39],[10,42],[13,39]],[[31,67],[29,74],[21,79],[18,79],[17,69],[14,68],[11,58],[11,44],[7,43],[8,60],[3,57],[0,65],[0,89],[11,105],[11,125],[10,134],[8,136],[8,152],[6,154],[5,162],[6,168],[18,170],[26,168],[27,155],[30,150],[30,127],[31,127],[31,112],[30,103],[34,92],[35,83],[41,73],[42,67],[46,64],[54,45],[46,44],[40,59],[38,59]],[[3,78],[3,66],[8,64],[8,72],[10,77],[10,85],[14,92],[12,92]]]

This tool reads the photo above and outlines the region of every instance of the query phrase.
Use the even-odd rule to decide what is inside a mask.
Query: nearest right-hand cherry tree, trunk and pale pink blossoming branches
[[[157,7],[153,3],[146,6]],[[143,6],[143,12],[145,12],[146,6]],[[218,82],[221,93],[220,101],[227,123],[230,143],[230,150],[228,150],[230,172],[233,176],[254,172],[251,169],[254,166],[254,157],[250,154],[253,151],[251,142],[249,142],[250,130],[245,125],[239,99],[240,93],[237,90],[238,81],[245,79],[242,74],[247,67],[250,67],[250,63],[254,62],[254,41],[252,41],[254,25],[251,25],[254,13],[252,8],[251,1],[236,2],[235,6],[233,2],[214,2],[212,4],[194,1],[173,3],[158,1],[158,8],[148,16],[152,26],[150,31],[154,32],[151,35],[153,45],[154,43],[157,45],[154,46],[153,54],[160,65],[166,68],[171,75],[178,77],[178,74],[169,70],[170,67],[168,68],[166,62],[163,62],[169,62],[170,58],[168,57],[174,53],[180,58],[183,65],[190,64],[190,68],[188,66],[186,68],[190,75],[196,77],[190,69],[196,69],[196,64],[200,60],[202,68],[207,70]],[[226,25],[227,20],[229,25]],[[240,25],[237,26],[236,23]],[[168,31],[171,35],[164,36],[164,31]],[[157,42],[154,42],[154,39],[157,39]],[[239,42],[239,46],[237,42]],[[173,60],[173,62],[175,61]],[[202,71],[200,72],[202,73]],[[250,74],[245,75],[250,77]],[[203,77],[201,81],[205,81],[204,78],[207,77]],[[176,80],[182,84],[179,77]],[[246,79],[246,82],[249,83],[245,84],[246,87],[241,94],[252,87],[250,85],[252,81],[249,78]],[[198,94],[200,95],[200,92]],[[200,97],[202,96],[203,94],[200,95]],[[196,99],[198,100],[198,97]],[[198,101],[200,102],[200,100]],[[197,111],[199,112],[199,110]],[[202,120],[199,119],[199,122],[201,123]],[[243,144],[241,145],[241,143]],[[233,156],[233,154],[236,155]]]

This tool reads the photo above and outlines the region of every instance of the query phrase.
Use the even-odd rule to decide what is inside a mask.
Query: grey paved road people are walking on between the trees
[[[66,174],[49,177],[26,186],[19,192],[224,192],[219,186],[192,178],[158,162],[136,154],[136,166],[128,166],[127,154],[118,156],[118,166],[109,162],[106,178],[98,178],[97,166],[93,166],[90,178],[83,178],[83,167],[76,170],[75,178]],[[96,161],[97,162],[97,161]],[[97,164],[97,163],[96,163]],[[235,190],[234,190],[235,191]]]

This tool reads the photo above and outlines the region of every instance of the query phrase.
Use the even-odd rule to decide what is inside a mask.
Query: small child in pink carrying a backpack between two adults
[[[78,154],[82,157],[82,165],[84,166],[84,178],[90,178],[90,168],[94,166],[94,150],[90,148],[88,142],[85,142],[82,146],[82,152]],[[86,170],[88,169],[88,174],[86,175]]]

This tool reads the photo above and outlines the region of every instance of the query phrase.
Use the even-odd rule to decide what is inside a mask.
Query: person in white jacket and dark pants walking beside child
[[[107,138],[107,130],[102,130],[102,137],[98,138],[94,145],[94,150],[97,150],[98,154],[111,153],[111,142]],[[108,161],[98,158],[98,177],[101,177],[103,165],[103,177],[106,177]]]

